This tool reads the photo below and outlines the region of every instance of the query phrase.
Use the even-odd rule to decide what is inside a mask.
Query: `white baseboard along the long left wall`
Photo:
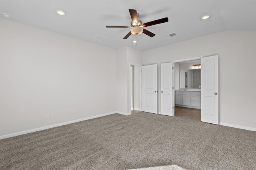
[[[0,136],[0,140],[1,140],[1,139],[5,139],[5,138],[14,137],[14,136],[19,136],[19,135],[22,135],[22,134],[31,133],[31,132],[37,132],[37,131],[40,131],[40,130],[46,130],[46,129],[48,129],[48,128],[59,127],[59,126],[68,125],[68,124],[71,124],[71,123],[76,123],[76,122],[80,122],[80,121],[86,121],[86,120],[89,120],[89,119],[94,119],[94,118],[98,118],[98,117],[103,117],[103,116],[107,116],[107,115],[112,115],[112,114],[115,114],[115,113],[118,113],[118,112],[110,112],[110,113],[105,113],[105,114],[102,114],[102,115],[96,115],[96,116],[86,117],[86,118],[82,118],[82,119],[77,119],[77,120],[74,120],[74,121],[68,121],[68,122],[64,122],[64,123],[58,123],[58,124],[50,125],[50,126],[46,126],[46,127],[34,128],[34,129],[30,129],[30,130],[25,130],[25,131],[22,131],[22,132],[16,132],[16,133],[12,133],[12,134],[6,134],[6,135]],[[119,114],[121,114],[121,113],[119,113]],[[122,114],[122,115],[123,115],[123,114]]]

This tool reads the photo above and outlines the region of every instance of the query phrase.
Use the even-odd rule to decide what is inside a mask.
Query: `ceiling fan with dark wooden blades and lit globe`
[[[130,35],[139,35],[139,34],[146,34],[150,37],[154,37],[156,34],[144,29],[144,27],[148,27],[148,26],[153,26],[156,24],[161,24],[164,22],[168,22],[168,18],[162,18],[159,20],[154,20],[151,22],[147,22],[145,24],[142,23],[141,20],[138,19],[138,17],[140,16],[139,13],[137,13],[136,10],[132,10],[129,9],[131,18],[132,18],[132,22],[131,22],[131,26],[106,26],[106,28],[132,28],[131,31],[123,38],[123,39],[127,39]]]

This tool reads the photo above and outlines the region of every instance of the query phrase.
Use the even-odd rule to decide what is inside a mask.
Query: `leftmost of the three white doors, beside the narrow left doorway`
[[[142,111],[157,114],[157,64],[142,66]]]

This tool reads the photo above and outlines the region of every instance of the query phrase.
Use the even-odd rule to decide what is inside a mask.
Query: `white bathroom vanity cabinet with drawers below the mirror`
[[[201,109],[201,92],[175,91],[175,104],[179,107]]]

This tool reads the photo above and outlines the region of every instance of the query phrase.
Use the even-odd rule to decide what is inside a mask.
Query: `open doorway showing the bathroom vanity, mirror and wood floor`
[[[200,59],[174,63],[174,116],[201,121]]]

